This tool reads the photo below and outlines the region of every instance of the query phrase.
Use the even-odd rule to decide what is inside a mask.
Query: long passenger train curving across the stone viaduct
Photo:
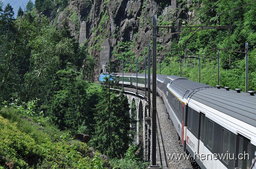
[[[123,83],[122,73],[112,77],[114,83]],[[213,87],[176,75],[156,78],[156,92],[164,101],[184,153],[191,156],[193,168],[250,169],[256,156],[254,91],[249,94],[242,89]],[[124,84],[136,86],[136,74],[125,73]],[[148,75],[145,79],[145,74],[138,74],[138,87],[148,88]]]

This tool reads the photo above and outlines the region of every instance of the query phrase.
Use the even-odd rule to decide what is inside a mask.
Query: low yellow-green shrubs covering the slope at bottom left
[[[1,115],[9,117],[12,109],[2,109]],[[18,111],[14,111],[18,113]],[[18,113],[19,114],[19,113]],[[16,114],[17,115],[17,114]],[[12,120],[13,120],[12,118]],[[89,157],[89,147],[81,142],[69,138],[68,134],[59,136],[59,140],[52,142],[44,138],[44,142],[38,142],[36,130],[26,132],[19,127],[21,121],[11,122],[0,116],[0,165],[10,168],[104,168],[104,161],[95,153]],[[31,125],[31,128],[36,124]],[[37,129],[39,130],[39,128]],[[39,131],[40,132],[40,131]],[[60,131],[59,131],[60,132]]]

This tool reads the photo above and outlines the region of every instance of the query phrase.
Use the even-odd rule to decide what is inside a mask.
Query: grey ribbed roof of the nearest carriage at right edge
[[[190,98],[256,127],[256,96],[224,88],[205,88],[194,91]]]

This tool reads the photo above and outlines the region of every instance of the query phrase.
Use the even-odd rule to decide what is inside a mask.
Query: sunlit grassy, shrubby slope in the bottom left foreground
[[[0,169],[104,168],[100,153],[89,157],[89,147],[60,131],[47,120],[0,110]]]

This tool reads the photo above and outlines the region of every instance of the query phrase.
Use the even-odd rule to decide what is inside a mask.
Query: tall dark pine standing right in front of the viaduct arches
[[[103,99],[96,106],[96,126],[92,139],[94,148],[109,158],[120,157],[132,144],[131,117],[127,98],[103,90]]]

